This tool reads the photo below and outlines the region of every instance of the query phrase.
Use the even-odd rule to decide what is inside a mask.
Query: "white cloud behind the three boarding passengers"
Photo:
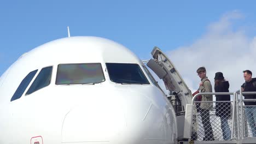
[[[212,85],[214,74],[222,71],[229,80],[230,91],[236,91],[244,82],[243,70],[249,69],[256,75],[256,37],[248,37],[243,27],[232,29],[234,20],[242,17],[238,11],[224,14],[193,44],[167,52],[190,89],[198,88],[200,78],[196,69],[201,66],[206,67]]]

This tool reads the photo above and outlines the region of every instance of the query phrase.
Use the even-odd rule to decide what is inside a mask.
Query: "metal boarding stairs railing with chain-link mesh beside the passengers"
[[[198,95],[231,95],[232,101],[195,101],[196,97]],[[246,117],[248,113],[246,113],[246,109],[249,108],[248,105],[243,104],[244,101],[256,101],[256,99],[243,99],[242,94],[256,94],[256,92],[227,92],[227,93],[198,93],[196,94],[190,104],[187,104],[186,106],[186,112],[185,112],[185,123],[184,123],[184,138],[188,138],[188,143],[256,143],[256,137],[253,137],[253,133],[255,134],[255,129],[251,129],[249,125],[249,121],[253,119],[252,116]],[[205,135],[204,128],[202,124],[202,118],[201,118],[201,110],[196,110],[195,104],[196,103],[211,103],[213,105],[213,108],[210,110],[210,124],[213,129],[213,135],[214,135],[214,141],[203,141],[203,137]],[[223,139],[223,132],[221,128],[221,122],[220,117],[216,116],[216,109],[215,106],[218,103],[220,107],[223,106],[223,110],[225,110],[224,106],[226,103],[230,103],[230,109],[231,109],[231,117],[228,119],[228,125],[231,130],[231,139],[230,140],[224,140]],[[255,107],[255,113],[256,113],[256,106]],[[193,127],[193,121],[194,126],[196,125],[196,133],[197,135],[191,135],[191,129]],[[256,119],[254,119],[256,120]],[[209,127],[210,127],[209,124]],[[186,129],[188,127],[189,129]],[[182,142],[179,142],[182,143]],[[187,142],[183,142],[187,143]]]

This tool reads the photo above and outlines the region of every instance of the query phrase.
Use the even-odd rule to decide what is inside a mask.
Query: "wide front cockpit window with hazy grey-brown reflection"
[[[101,63],[59,64],[56,85],[100,83],[105,81]]]

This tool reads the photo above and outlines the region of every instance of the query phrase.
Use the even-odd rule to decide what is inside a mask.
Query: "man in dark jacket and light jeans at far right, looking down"
[[[245,83],[241,86],[243,92],[256,92],[256,78],[252,79],[252,71],[244,70]],[[256,94],[243,94],[245,99],[256,99]],[[245,101],[245,115],[251,127],[253,137],[256,137],[256,101]]]

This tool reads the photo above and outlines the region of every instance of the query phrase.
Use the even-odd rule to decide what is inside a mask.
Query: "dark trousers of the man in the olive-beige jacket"
[[[201,117],[202,117],[203,129],[205,129],[205,137],[203,138],[203,140],[211,141],[213,140],[213,132],[212,132],[212,125],[210,123],[210,111],[201,109]]]

